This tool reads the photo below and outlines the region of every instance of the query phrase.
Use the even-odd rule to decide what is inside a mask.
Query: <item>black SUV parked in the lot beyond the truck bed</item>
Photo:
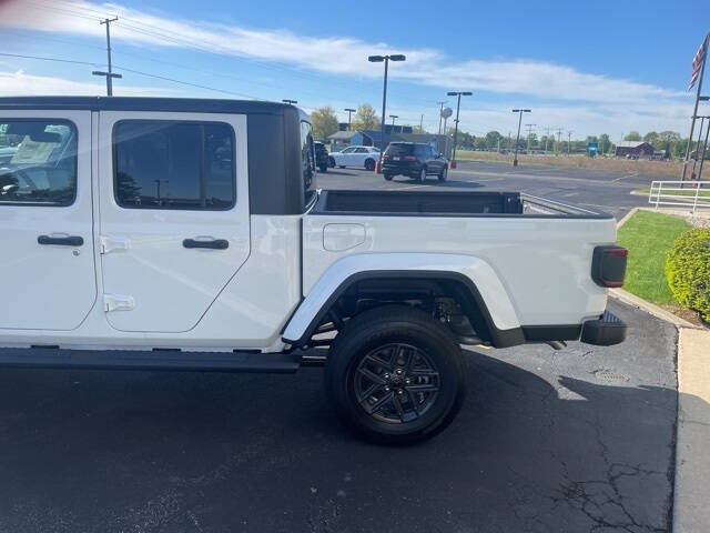
[[[448,161],[430,144],[390,142],[382,159],[382,173],[387,181],[397,174],[418,181],[434,174],[439,181],[446,181],[448,173]]]

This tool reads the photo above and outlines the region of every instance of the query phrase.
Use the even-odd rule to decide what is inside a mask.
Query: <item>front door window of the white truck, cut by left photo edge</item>
[[[0,119],[0,204],[62,207],[75,197],[75,125]]]

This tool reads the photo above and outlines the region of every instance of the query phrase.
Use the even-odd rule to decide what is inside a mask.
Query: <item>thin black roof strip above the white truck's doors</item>
[[[192,113],[283,114],[294,105],[256,100],[143,97],[4,97],[0,109],[77,109],[90,111],[173,111]],[[304,115],[298,109],[300,114]]]

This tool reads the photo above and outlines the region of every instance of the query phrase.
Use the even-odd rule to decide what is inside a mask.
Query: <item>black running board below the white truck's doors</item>
[[[292,373],[301,366],[301,354],[0,348],[0,368],[2,366],[16,369]]]

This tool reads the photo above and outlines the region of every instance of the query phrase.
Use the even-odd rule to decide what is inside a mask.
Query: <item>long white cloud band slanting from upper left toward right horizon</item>
[[[690,112],[691,97],[686,92],[580,72],[548,61],[452,61],[443,52],[428,48],[400,49],[386,42],[365,42],[349,37],[312,38],[290,31],[176,20],[115,3],[84,0],[16,0],[0,6],[0,27],[102,39],[104,28],[99,26],[98,19],[118,14],[119,21],[112,26],[115,40],[196,49],[334,76],[379,79],[382,64],[367,62],[367,54],[373,51],[404,53],[407,56],[405,63],[390,66],[393,78],[442,89],[507,94],[510,100],[535,99],[536,117],[540,122],[575,124],[570,127],[572,129],[577,129],[576,124],[584,128],[584,121],[589,121],[599,127],[607,124],[602,129],[610,133],[630,129],[626,124],[641,130],[643,124],[653,129],[682,130]],[[500,103],[496,110],[477,109],[469,113],[487,117],[490,122],[498,119],[495,122],[508,123],[508,108],[507,103]],[[591,125],[585,130],[589,128]]]

